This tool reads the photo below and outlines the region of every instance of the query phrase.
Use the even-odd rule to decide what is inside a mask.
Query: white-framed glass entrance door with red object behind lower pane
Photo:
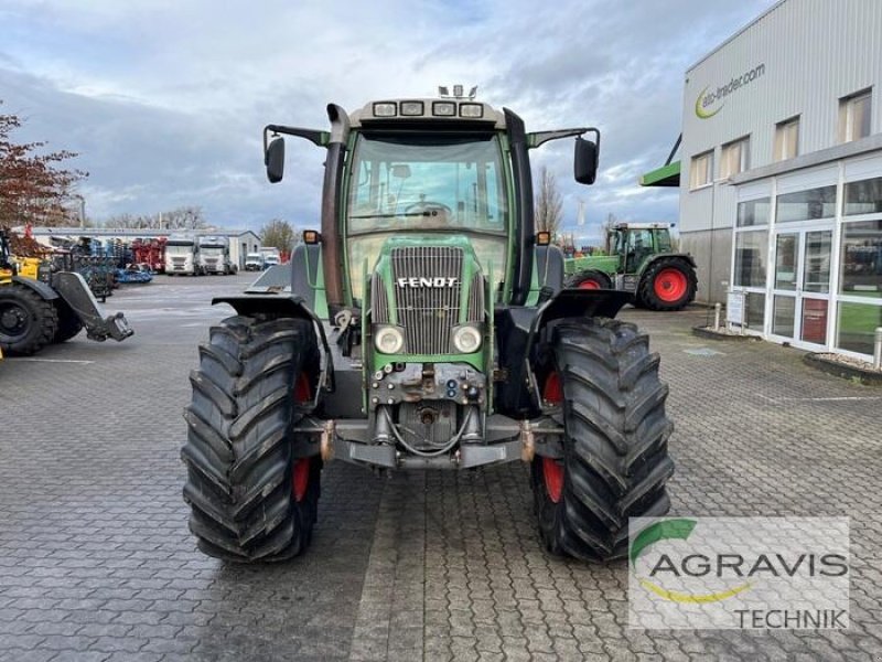
[[[770,335],[794,345],[827,345],[832,228],[775,233]]]

